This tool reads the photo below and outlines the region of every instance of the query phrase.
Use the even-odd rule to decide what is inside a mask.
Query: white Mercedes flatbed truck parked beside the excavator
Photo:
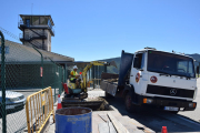
[[[178,113],[193,111],[197,79],[191,57],[144,48],[121,53],[119,74],[102,73],[101,89],[124,98],[128,112],[150,105]]]

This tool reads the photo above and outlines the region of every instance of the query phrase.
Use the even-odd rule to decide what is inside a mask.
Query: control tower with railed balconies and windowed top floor
[[[18,28],[20,41],[28,47],[34,45],[51,52],[51,37],[54,37],[51,16],[20,14]]]

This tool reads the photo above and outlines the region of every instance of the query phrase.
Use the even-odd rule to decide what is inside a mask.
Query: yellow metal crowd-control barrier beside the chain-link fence
[[[40,133],[51,114],[53,114],[54,122],[51,86],[27,98],[26,113],[28,133],[33,133],[34,131]]]

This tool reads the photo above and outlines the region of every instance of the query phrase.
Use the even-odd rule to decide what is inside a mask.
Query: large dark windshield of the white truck
[[[188,57],[148,51],[148,71],[194,78],[193,60]]]

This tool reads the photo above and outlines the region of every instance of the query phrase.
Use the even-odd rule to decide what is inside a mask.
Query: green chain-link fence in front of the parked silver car
[[[66,70],[44,59],[37,48],[4,41],[2,33],[0,35],[0,132],[19,133],[27,127],[27,96],[51,86],[56,102],[62,93]]]

